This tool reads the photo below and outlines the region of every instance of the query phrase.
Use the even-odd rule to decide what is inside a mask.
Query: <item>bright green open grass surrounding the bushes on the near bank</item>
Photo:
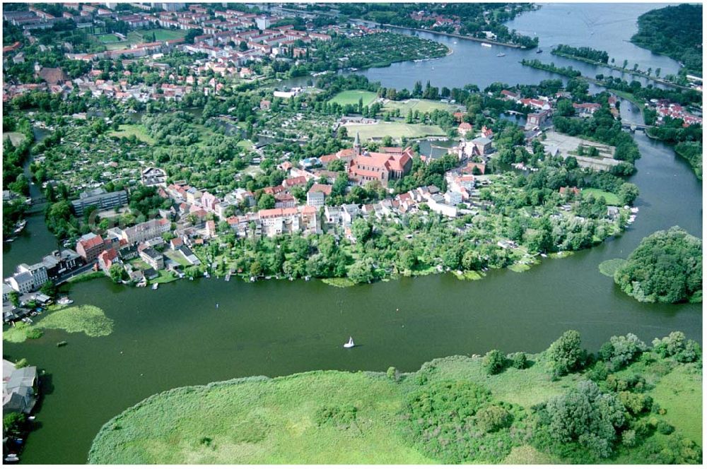
[[[93,441],[89,463],[439,463],[404,436],[401,412],[409,396],[421,386],[470,381],[490,389],[496,402],[529,410],[586,379],[570,374],[551,381],[543,355],[528,359],[527,369],[508,367],[495,375],[479,358],[455,356],[423,364],[397,381],[384,373],[329,371],[177,388],[107,422]],[[667,411],[659,418],[701,441],[699,367],[649,360],[618,374],[634,373],[645,377],[648,394]],[[320,418],[322,410],[352,408],[349,420]],[[667,442],[658,432],[651,439]],[[641,463],[640,454],[624,452],[604,462]],[[518,444],[502,462],[567,461]]]

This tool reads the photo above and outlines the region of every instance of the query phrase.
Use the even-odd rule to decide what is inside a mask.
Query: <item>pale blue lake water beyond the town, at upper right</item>
[[[392,28],[397,32],[412,34],[425,39],[442,42],[452,49],[452,54],[440,59],[421,62],[397,62],[387,67],[356,71],[368,77],[370,81],[380,81],[385,87],[411,90],[416,81],[423,84],[430,80],[433,86],[439,88],[462,88],[468,83],[474,83],[482,90],[494,82],[508,85],[539,83],[549,78],[564,76],[548,71],[531,69],[522,66],[522,59],[550,63],[557,66],[573,66],[584,76],[594,78],[597,74],[605,76],[620,76],[626,81],[636,80],[642,85],[653,83],[655,86],[664,86],[653,81],[648,81],[642,76],[632,76],[630,73],[621,73],[585,62],[565,59],[550,54],[553,46],[568,44],[574,47],[592,47],[605,50],[609,57],[615,59],[615,64],[621,66],[624,59],[629,60],[628,68],[638,64],[638,69],[648,67],[661,69],[661,76],[668,73],[677,73],[679,66],[676,61],[658,54],[653,54],[646,49],[633,45],[629,40],[638,30],[636,18],[646,11],[662,8],[667,4],[542,4],[538,10],[524,13],[508,23],[510,30],[518,30],[525,35],[537,35],[539,49],[542,54],[537,54],[537,49],[518,49],[515,47],[482,47],[480,42],[464,40],[457,37],[435,34],[433,32],[411,31],[404,28]],[[370,23],[368,25],[371,25]],[[497,54],[506,54],[497,57]],[[350,73],[350,72],[342,72]],[[298,77],[279,83],[282,87],[303,86],[311,77]],[[590,93],[602,90],[590,83]]]

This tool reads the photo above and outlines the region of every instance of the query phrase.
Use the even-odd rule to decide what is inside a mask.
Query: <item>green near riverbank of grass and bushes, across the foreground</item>
[[[356,348],[344,351],[356,352]],[[551,381],[546,354],[525,356],[527,365],[522,360],[514,361],[518,368],[507,359],[500,374],[489,374],[486,361],[479,356],[454,356],[425,363],[413,373],[400,373],[392,367],[387,373],[318,371],[175,388],[146,398],[103,425],[88,462],[573,463],[583,458],[602,463],[646,463],[660,451],[675,451],[670,447],[672,439],[661,432],[641,434],[631,447],[617,444],[612,457],[593,458],[573,453],[559,456],[528,432],[532,415],[537,412],[532,406],[561,398],[588,378],[611,389],[611,383],[630,380],[630,376],[638,376],[649,385],[639,391],[634,384],[633,392],[624,393],[621,402],[629,405],[625,399],[630,396],[653,400],[653,410],[629,417],[636,425],[673,427],[673,438],[686,439],[679,444],[686,448],[692,449],[694,442],[701,441],[701,412],[689,412],[701,405],[697,364],[647,352],[617,374],[602,374],[603,365],[596,365]],[[481,392],[477,400],[467,402],[472,414],[475,406],[479,415],[489,408],[498,412],[506,409],[506,415],[513,415],[511,421],[489,431],[481,426],[480,417],[467,420],[474,441],[460,438],[436,446],[439,430],[440,439],[448,439],[448,432],[454,432],[446,422],[450,415],[434,414],[443,412],[442,407],[423,407],[423,411],[436,415],[431,418],[440,419],[434,421],[439,430],[428,434],[427,439],[416,436],[416,420],[409,417],[410,412],[418,412],[416,403],[420,399],[432,398],[439,406],[448,406],[461,398],[456,393],[466,389]],[[679,399],[673,396],[678,391]],[[617,396],[612,391],[604,392]],[[688,443],[690,440],[693,443]],[[489,450],[483,444],[498,446]]]

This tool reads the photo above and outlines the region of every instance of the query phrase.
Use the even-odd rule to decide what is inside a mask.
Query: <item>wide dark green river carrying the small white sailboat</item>
[[[634,16],[640,13],[638,8]],[[627,25],[617,28],[631,33]],[[477,76],[466,74],[462,57],[455,57],[457,69],[436,68],[433,75],[411,79],[429,78],[438,86],[451,80],[474,83]],[[509,81],[506,69],[491,72]],[[532,69],[514,73],[512,81],[521,83],[539,78]],[[623,111],[630,112],[627,106]],[[383,371],[392,365],[411,371],[435,357],[492,348],[539,352],[569,328],[580,331],[590,350],[627,332],[650,341],[679,330],[701,342],[701,304],[636,302],[597,268],[606,259],[626,257],[655,230],[680,225],[702,234],[702,186],[689,165],[643,133],[635,138],[642,155],[630,178],[641,189],[636,222],[621,237],[567,259],[544,260],[526,273],[491,271],[476,282],[429,275],[346,289],[317,281],[226,283],[216,278],[179,281],[157,291],[107,279],[74,285],[76,304],[103,308],[115,331],[103,338],[47,331],[37,340],[4,343],[9,359],[26,357],[47,370],[45,398],[23,463],[85,462],[103,423],[175,386],[312,369]],[[28,232],[39,229],[35,220],[28,225]],[[35,261],[51,249],[19,241],[8,253],[12,257],[6,255],[4,271],[6,263]],[[341,348],[349,335],[361,347]],[[69,344],[57,348],[59,340]]]

